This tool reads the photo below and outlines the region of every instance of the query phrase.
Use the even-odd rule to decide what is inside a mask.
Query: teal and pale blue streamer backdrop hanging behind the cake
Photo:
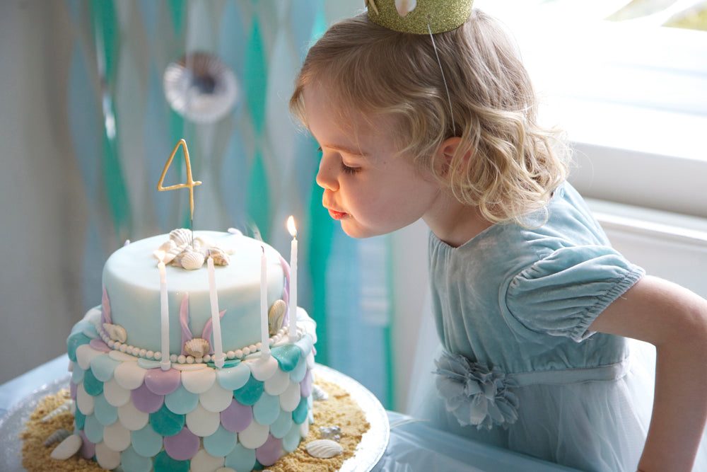
[[[69,116],[90,203],[83,231],[83,299],[100,301],[103,261],[127,239],[189,226],[186,190],[157,192],[179,139],[195,180],[194,228],[257,228],[285,258],[293,214],[300,241],[299,300],[317,321],[317,362],[353,376],[392,405],[388,239],[345,236],[321,206],[320,156],[288,115],[307,47],[341,0],[66,0],[74,28]],[[163,73],[185,52],[216,54],[235,74],[235,108],[192,122],[165,99]],[[185,181],[181,154],[165,185]]]

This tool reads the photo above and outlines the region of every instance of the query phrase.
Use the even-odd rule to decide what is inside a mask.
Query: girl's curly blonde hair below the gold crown
[[[394,117],[401,153],[457,200],[478,206],[493,223],[522,223],[566,179],[561,134],[537,123],[537,98],[520,54],[493,18],[475,8],[434,43],[436,50],[429,35],[375,25],[366,13],[341,21],[310,48],[291,112],[306,125],[304,88],[327,84],[344,118]],[[440,166],[433,156],[450,137],[460,137],[460,145]]]

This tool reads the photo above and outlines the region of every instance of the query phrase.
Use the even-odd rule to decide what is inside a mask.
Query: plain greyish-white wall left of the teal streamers
[[[0,382],[65,352],[81,317],[70,241],[84,207],[57,121],[71,45],[59,3],[0,2]]]

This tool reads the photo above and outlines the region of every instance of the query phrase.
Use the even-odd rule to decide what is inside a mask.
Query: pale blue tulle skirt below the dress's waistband
[[[513,388],[518,420],[508,427],[462,427],[438,398],[432,379],[417,383],[428,391],[411,397],[409,413],[441,430],[580,471],[635,472],[653,406],[655,349],[633,340],[630,347],[629,364],[618,379]],[[707,471],[705,443],[695,472]]]

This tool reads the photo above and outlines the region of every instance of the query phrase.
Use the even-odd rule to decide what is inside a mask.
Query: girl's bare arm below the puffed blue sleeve
[[[691,471],[707,419],[707,301],[643,277],[590,330],[655,345],[655,399],[638,469]]]

